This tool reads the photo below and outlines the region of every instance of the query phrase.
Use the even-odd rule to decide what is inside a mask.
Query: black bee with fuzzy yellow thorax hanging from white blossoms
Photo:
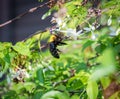
[[[66,43],[62,42],[62,37],[60,35],[52,34],[49,40],[49,50],[53,57],[60,58],[59,49],[57,49],[58,45],[66,45]]]

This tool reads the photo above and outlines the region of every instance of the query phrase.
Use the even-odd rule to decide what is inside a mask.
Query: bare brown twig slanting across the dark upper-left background
[[[6,26],[6,25],[8,25],[8,24],[10,24],[10,23],[12,23],[12,22],[14,22],[14,21],[16,21],[16,20],[21,19],[22,17],[24,17],[24,16],[27,15],[27,14],[30,14],[30,13],[35,12],[35,11],[38,10],[39,8],[42,8],[43,6],[46,6],[46,5],[50,4],[50,3],[53,2],[53,1],[54,1],[54,0],[50,0],[50,1],[48,1],[48,2],[46,2],[46,3],[44,3],[44,4],[42,4],[42,5],[39,5],[39,6],[37,6],[37,7],[34,7],[34,8],[31,8],[31,9],[27,10],[26,12],[18,15],[17,17],[15,17],[15,18],[13,18],[13,19],[11,19],[11,20],[9,20],[9,21],[6,21],[5,23],[0,24],[0,28]]]

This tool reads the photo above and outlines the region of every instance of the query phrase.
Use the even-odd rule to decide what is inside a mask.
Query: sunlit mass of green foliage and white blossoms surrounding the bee
[[[41,49],[43,41],[47,45],[49,31],[38,31],[36,35],[15,45],[0,42],[1,99],[102,99],[113,81],[119,87],[120,2],[101,0],[99,6],[103,12],[97,20],[99,28],[95,28],[93,23],[100,16],[88,15],[92,3],[82,6],[81,2],[68,0],[64,3],[66,16],[58,17],[62,19],[59,20],[62,24],[56,22],[58,30],[69,36],[65,41],[67,45],[58,46],[60,59],[52,57],[49,46]],[[115,5],[117,7],[112,9]],[[42,19],[53,10],[59,12],[58,5]],[[76,32],[78,25],[83,33]],[[119,99],[119,93],[115,90],[108,98]]]

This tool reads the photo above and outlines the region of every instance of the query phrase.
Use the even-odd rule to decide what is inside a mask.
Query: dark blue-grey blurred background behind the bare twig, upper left
[[[47,2],[48,0],[44,0]],[[0,0],[0,24],[18,16],[32,7],[43,4],[38,0]],[[43,7],[21,19],[0,28],[0,42],[21,41],[38,30],[51,26],[51,17],[41,20],[48,7]]]

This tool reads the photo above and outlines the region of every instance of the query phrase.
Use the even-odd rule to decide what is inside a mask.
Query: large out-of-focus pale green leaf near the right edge
[[[101,65],[97,67],[91,75],[92,80],[99,80],[100,78],[115,72],[116,66],[114,53],[115,52],[112,48],[108,48],[102,53],[102,56],[98,59],[98,62],[101,63]]]

